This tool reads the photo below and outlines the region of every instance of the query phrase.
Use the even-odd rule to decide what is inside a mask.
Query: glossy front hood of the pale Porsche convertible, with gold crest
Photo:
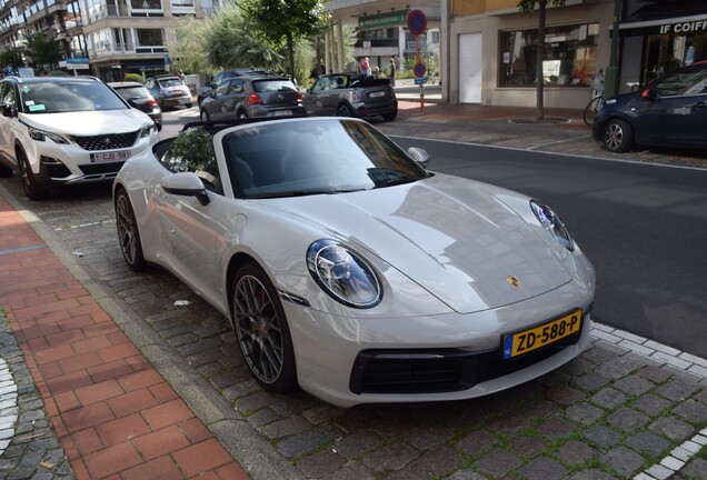
[[[406,186],[277,202],[337,232],[351,248],[368,251],[360,253],[378,256],[457,312],[470,313],[522,301],[571,280],[537,228],[489,193],[491,189],[436,176]]]

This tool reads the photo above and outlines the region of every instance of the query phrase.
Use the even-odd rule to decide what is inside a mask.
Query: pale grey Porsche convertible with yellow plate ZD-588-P
[[[468,399],[577,357],[595,271],[560,219],[428,160],[357,119],[187,124],[116,178],[120,247],[222,312],[271,392]]]

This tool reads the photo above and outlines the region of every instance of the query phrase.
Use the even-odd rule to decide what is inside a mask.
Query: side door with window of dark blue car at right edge
[[[640,102],[638,143],[700,144],[707,141],[707,69],[678,71],[658,81],[656,97]]]

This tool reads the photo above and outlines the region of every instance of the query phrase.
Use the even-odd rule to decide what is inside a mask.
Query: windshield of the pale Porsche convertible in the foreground
[[[227,133],[222,142],[231,181],[245,198],[340,193],[427,178],[405,151],[362,121],[252,124]]]

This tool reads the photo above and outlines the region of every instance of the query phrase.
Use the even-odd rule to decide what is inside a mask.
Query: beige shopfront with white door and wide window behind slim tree
[[[542,40],[537,12],[520,13],[515,1],[467,3],[468,14],[452,14],[449,24],[450,102],[535,107],[541,79],[545,107],[585,108],[594,77],[608,66],[614,0],[548,8]]]

